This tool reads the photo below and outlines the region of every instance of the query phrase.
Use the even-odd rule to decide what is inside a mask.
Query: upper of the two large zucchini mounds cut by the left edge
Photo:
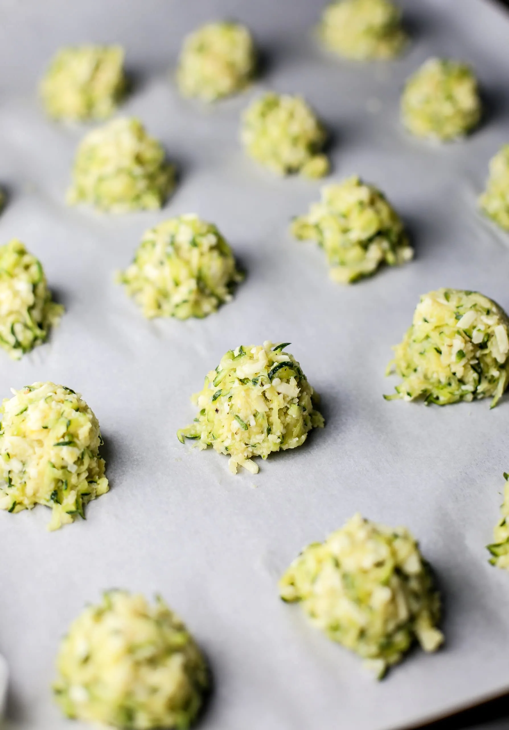
[[[15,360],[46,342],[63,307],[55,304],[40,262],[17,239],[0,246],[0,345]]]

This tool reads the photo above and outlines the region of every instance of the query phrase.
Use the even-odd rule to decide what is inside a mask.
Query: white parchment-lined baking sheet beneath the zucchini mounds
[[[79,727],[48,685],[58,640],[85,602],[120,586],[160,592],[206,651],[215,691],[204,730],[385,730],[424,721],[509,688],[509,577],[484,545],[508,469],[508,397],[440,410],[388,403],[391,345],[419,294],[478,289],[509,308],[509,239],[475,210],[491,155],[508,141],[509,20],[481,0],[403,3],[413,45],[392,64],[357,66],[309,37],[311,0],[2,0],[0,183],[9,204],[1,242],[20,237],[66,305],[51,342],[21,362],[0,358],[1,396],[35,380],[83,393],[101,423],[112,490],[86,522],[54,534],[42,507],[0,514],[0,651],[11,675],[9,722]],[[266,74],[244,95],[203,108],[179,98],[167,69],[182,36],[205,20],[248,23]],[[83,128],[44,119],[36,80],[56,47],[120,42],[136,82],[123,113],[139,115],[179,164],[160,212],[123,217],[63,202]],[[429,55],[465,58],[486,95],[486,120],[466,142],[432,147],[397,122],[405,77]],[[287,233],[319,182],[279,180],[237,142],[238,115],[265,88],[303,93],[334,131],[333,177],[358,173],[408,223],[413,263],[343,288],[322,252]],[[214,220],[248,272],[231,304],[205,320],[147,322],[113,283],[142,231],[171,215]],[[291,341],[322,394],[323,431],[228,473],[228,459],[182,446],[189,396],[241,343]],[[254,488],[256,485],[256,488]],[[446,646],[420,651],[381,683],[360,660],[279,602],[276,581],[306,543],[354,512],[407,525],[443,590]]]

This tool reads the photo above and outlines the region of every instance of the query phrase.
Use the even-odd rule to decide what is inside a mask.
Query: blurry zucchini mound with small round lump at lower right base
[[[300,96],[265,93],[242,117],[241,142],[247,153],[276,174],[323,177],[329,171],[325,128]]]

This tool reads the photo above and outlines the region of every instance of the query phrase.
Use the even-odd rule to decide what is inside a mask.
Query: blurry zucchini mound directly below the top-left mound
[[[174,188],[175,171],[157,139],[138,119],[114,119],[80,143],[67,193],[70,205],[125,213],[162,207]]]

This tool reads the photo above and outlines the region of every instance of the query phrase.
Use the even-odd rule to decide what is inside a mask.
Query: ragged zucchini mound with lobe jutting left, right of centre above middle
[[[349,177],[322,188],[322,200],[295,218],[292,234],[316,241],[327,255],[330,277],[349,284],[370,276],[381,264],[410,261],[413,250],[403,223],[377,188]]]

